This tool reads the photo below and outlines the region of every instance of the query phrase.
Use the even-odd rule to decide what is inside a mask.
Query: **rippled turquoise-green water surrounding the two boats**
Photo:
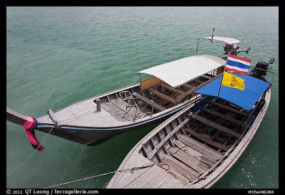
[[[269,109],[252,142],[213,188],[279,188],[278,7],[7,7],[6,105],[41,117],[73,102],[139,82],[136,73],[195,55],[196,38],[233,37],[251,65],[276,61]],[[219,56],[204,40],[198,54]],[[271,78],[271,75],[267,75]],[[6,188],[45,188],[115,171],[157,125],[93,147],[48,135],[42,153],[6,177]],[[46,133],[36,131],[42,141]],[[33,152],[24,129],[6,122],[6,174]],[[113,174],[57,188],[105,188]]]

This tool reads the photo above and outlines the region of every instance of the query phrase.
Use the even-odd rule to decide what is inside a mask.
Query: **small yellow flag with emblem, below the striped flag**
[[[222,85],[232,87],[232,88],[237,88],[237,89],[240,89],[241,91],[243,91],[245,88],[243,81],[244,81],[244,79],[241,79],[234,74],[231,74],[229,72],[224,72]]]

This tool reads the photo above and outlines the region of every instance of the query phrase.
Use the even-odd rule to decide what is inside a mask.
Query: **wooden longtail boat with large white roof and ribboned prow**
[[[166,119],[193,105],[192,91],[223,72],[226,61],[196,55],[139,71],[152,75],[140,83],[97,95],[34,118],[34,130],[85,145]],[[141,77],[140,77],[141,78]],[[6,120],[23,126],[28,119],[8,107]]]

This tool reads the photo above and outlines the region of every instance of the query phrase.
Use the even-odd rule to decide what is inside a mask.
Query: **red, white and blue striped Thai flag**
[[[251,60],[230,54],[226,65],[226,70],[247,74]]]

